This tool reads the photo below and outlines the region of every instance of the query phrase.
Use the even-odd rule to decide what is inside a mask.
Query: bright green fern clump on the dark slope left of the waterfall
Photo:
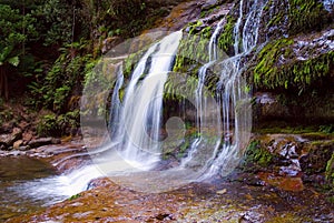
[[[77,54],[73,47],[75,43],[62,48],[63,52],[46,77],[28,85],[32,94],[29,102],[31,105],[47,108],[57,113],[62,113],[68,109],[70,95],[76,93],[76,89],[81,88],[84,71],[87,62],[90,61],[90,54]],[[80,49],[77,45],[77,51]]]

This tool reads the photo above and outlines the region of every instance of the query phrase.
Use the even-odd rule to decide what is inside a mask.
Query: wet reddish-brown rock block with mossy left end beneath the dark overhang
[[[303,190],[303,182],[333,186],[333,140],[266,134],[255,136],[242,168],[245,172],[259,172],[265,182],[287,190]]]

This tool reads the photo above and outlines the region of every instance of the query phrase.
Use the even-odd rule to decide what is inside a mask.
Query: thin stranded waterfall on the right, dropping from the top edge
[[[234,28],[235,55],[220,62],[222,72],[217,84],[217,103],[223,110],[223,143],[218,150],[214,150],[205,166],[207,170],[199,180],[216,174],[227,175],[238,164],[250,138],[250,95],[246,81],[240,77],[244,69],[242,59],[254,49],[258,41],[258,29],[265,4],[266,1],[255,0],[248,8],[249,11],[244,13],[247,7],[244,6],[243,0],[239,2],[239,17]],[[200,72],[207,67],[208,64],[205,64]],[[200,72],[199,82],[203,75]],[[199,115],[200,118],[197,119],[203,119],[204,114]],[[198,141],[196,143],[198,144]],[[191,148],[191,150],[196,149]]]

